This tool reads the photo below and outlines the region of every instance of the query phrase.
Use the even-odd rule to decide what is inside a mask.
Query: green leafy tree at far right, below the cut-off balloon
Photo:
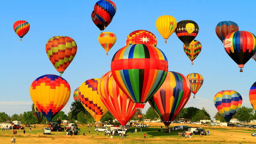
[[[236,114],[234,114],[233,118],[237,118],[241,121],[249,121],[253,118],[254,110],[253,108],[248,108],[245,106],[240,107]]]

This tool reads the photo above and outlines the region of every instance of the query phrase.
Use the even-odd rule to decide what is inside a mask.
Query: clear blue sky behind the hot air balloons
[[[96,2],[97,0],[1,2],[0,112],[12,115],[31,111],[31,83],[44,74],[59,75],[45,52],[45,44],[49,38],[63,35],[73,38],[77,43],[77,54],[62,75],[71,86],[71,97],[63,108],[67,114],[74,101],[73,91],[84,81],[100,78],[110,71],[114,53],[125,46],[130,32],[139,29],[155,34],[157,47],[168,59],[169,71],[180,72],[185,76],[196,72],[203,76],[204,83],[196,99],[192,96],[185,107],[205,107],[213,118],[217,112],[213,97],[221,90],[238,91],[243,97],[242,106],[251,107],[248,93],[256,79],[256,62],[249,60],[244,72],[240,73],[237,64],[226,54],[217,38],[215,27],[220,21],[230,20],[238,24],[239,30],[256,34],[254,1],[114,0],[117,11],[111,24],[104,30],[117,36],[109,56],[106,56],[100,46],[100,30],[91,20]],[[196,40],[201,42],[202,51],[193,66],[183,51],[183,43],[175,33],[167,44],[164,43],[165,40],[155,26],[156,19],[161,15],[171,15],[177,22],[190,19],[198,24]],[[30,24],[30,30],[22,42],[13,30],[13,24],[17,20],[26,20]]]

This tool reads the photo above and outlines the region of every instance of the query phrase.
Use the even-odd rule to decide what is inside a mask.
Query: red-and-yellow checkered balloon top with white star
[[[126,38],[126,45],[131,44],[148,44],[156,46],[156,36],[147,30],[136,30],[131,32]]]

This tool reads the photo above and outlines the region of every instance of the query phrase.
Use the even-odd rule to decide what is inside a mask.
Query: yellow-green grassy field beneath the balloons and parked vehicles
[[[155,125],[155,126],[154,126]],[[104,132],[95,132],[94,128],[91,129],[91,133],[88,134],[87,126],[79,126],[81,133],[78,135],[70,136],[65,135],[66,132],[52,132],[51,135],[43,135],[43,126],[37,126],[35,129],[32,127],[32,132],[29,132],[29,128],[25,127],[26,134],[23,134],[23,130],[17,130],[16,135],[16,144],[108,144],[108,143],[129,143],[129,144],[255,144],[256,137],[251,136],[251,133],[256,132],[254,129],[250,128],[231,128],[231,127],[209,127],[201,126],[206,131],[210,132],[210,135],[193,135],[194,138],[183,138],[182,136],[177,135],[177,131],[171,131],[171,133],[158,133],[158,129],[161,124],[150,124],[150,128],[143,128],[142,133],[140,129],[137,128],[137,133],[134,132],[135,128],[131,128],[127,132],[127,138],[122,140],[121,136],[113,136],[113,139],[110,136],[104,136]],[[175,125],[181,124],[171,124],[173,127]],[[183,124],[182,124],[183,125]],[[188,124],[184,124],[188,125]],[[200,126],[200,125],[188,125],[188,126]],[[85,133],[86,136],[83,136]],[[146,133],[146,139],[144,140],[143,134]],[[0,131],[0,142],[1,144],[7,144],[11,142],[13,138],[13,133],[9,131]]]

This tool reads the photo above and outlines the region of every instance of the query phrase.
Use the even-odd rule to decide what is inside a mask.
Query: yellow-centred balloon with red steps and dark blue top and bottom
[[[69,83],[62,77],[46,74],[30,86],[30,97],[46,119],[52,118],[67,104],[70,97]]]

